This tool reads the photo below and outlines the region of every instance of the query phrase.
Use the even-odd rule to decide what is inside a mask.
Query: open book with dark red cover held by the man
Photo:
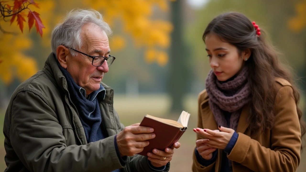
[[[154,128],[155,138],[148,140],[150,144],[138,154],[147,156],[147,152],[152,152],[153,149],[165,151],[166,148],[171,148],[186,131],[189,118],[190,114],[185,111],[181,113],[178,121],[151,115],[144,116],[140,125]]]

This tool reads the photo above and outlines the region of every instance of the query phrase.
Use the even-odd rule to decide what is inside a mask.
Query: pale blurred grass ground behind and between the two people
[[[127,126],[141,122],[145,114],[154,115],[168,119],[177,120],[180,114],[167,114],[169,108],[169,97],[166,95],[140,95],[138,97],[126,97],[118,95],[114,97],[114,107],[117,110],[121,122]],[[181,137],[179,142],[181,148],[175,150],[171,161],[170,172],[189,172],[192,166],[192,153],[195,146],[196,135],[192,128],[196,127],[197,118],[197,96],[185,98],[184,110],[191,114],[188,130]],[[5,110],[0,110],[0,128],[3,128]],[[5,150],[3,147],[4,136],[0,134],[0,171],[6,168],[4,162]],[[301,155],[301,162],[297,172],[305,172],[306,151]]]

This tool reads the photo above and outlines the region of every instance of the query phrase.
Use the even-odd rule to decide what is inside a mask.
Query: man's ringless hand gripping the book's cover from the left
[[[149,141],[155,137],[154,129],[151,127],[139,126],[136,123],[125,127],[117,134],[117,145],[122,156],[133,156],[144,150],[149,145]]]

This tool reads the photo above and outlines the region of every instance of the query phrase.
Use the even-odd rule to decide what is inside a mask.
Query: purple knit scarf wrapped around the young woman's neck
[[[236,131],[241,108],[250,101],[247,78],[248,69],[246,67],[236,77],[227,81],[219,81],[212,70],[209,72],[206,79],[206,92],[209,96],[209,107],[218,125]],[[230,126],[227,125],[222,110],[232,113]]]

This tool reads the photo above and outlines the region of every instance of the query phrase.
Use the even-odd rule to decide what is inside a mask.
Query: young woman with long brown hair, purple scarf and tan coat
[[[296,171],[305,125],[278,53],[241,13],[213,19],[203,40],[211,71],[198,98],[192,170]]]

